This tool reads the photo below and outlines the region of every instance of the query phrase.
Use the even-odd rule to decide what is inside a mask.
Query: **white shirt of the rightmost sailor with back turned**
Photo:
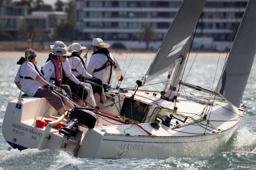
[[[114,57],[114,55],[112,55],[111,53],[109,53],[110,58],[115,62],[116,64],[116,68],[114,68],[114,66],[112,67],[112,75],[113,72],[116,72],[116,78],[119,80],[121,78],[121,69],[117,63],[116,58]],[[91,56],[90,61],[88,63],[87,66],[87,71],[89,74],[91,74],[92,76],[96,77],[96,78],[100,78],[102,80],[103,84],[107,84],[108,80],[109,80],[109,75],[110,75],[110,69],[111,67],[108,66],[107,70],[103,69],[97,72],[93,72],[95,69],[99,69],[102,67],[102,65],[104,65],[106,62],[108,61],[108,57],[103,54],[103,53],[97,53]],[[113,76],[111,75],[110,77],[110,82],[109,85],[111,85],[111,83],[113,82]]]

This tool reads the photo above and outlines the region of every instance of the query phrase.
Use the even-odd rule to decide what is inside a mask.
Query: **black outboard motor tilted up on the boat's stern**
[[[75,107],[72,109],[70,114],[67,116],[71,121],[60,128],[60,134],[66,135],[67,137],[76,137],[79,125],[93,129],[98,116],[92,110],[94,109],[87,107]]]

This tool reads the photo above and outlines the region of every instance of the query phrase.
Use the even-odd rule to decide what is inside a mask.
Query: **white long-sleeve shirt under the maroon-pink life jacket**
[[[62,69],[64,70],[65,75],[74,83],[77,85],[80,84],[80,81],[72,74],[71,72],[71,67],[68,62],[68,59],[65,60],[65,62],[62,63]],[[45,81],[54,84],[54,80],[50,80],[50,78],[56,78],[55,76],[55,67],[54,64],[52,63],[52,60],[48,61],[46,64],[43,66],[43,72],[44,72],[44,78]]]

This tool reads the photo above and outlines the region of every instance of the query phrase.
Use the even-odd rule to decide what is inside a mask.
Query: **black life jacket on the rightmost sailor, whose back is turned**
[[[115,62],[111,59],[108,48],[98,48],[98,50],[94,51],[94,53],[92,53],[92,55],[94,54],[98,54],[98,53],[102,53],[105,54],[108,57],[108,60],[105,64],[103,64],[99,69],[95,69],[93,72],[98,72],[101,71],[103,69],[107,70],[107,67],[110,66],[110,74],[109,74],[109,78],[108,78],[108,84],[110,83],[111,77],[112,77],[112,67],[114,66],[114,69],[116,69],[116,64]]]

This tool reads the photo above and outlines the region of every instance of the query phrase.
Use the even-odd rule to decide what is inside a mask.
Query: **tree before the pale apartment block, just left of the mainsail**
[[[147,29],[147,27],[148,27],[148,29]],[[145,35],[144,35],[144,33],[145,33]],[[143,35],[144,35],[144,37],[143,37]],[[155,32],[155,30],[151,26],[142,26],[141,32],[137,33],[137,38],[139,40],[141,40],[143,38],[143,40],[146,41],[146,49],[148,50],[149,42],[157,40],[158,34]]]

